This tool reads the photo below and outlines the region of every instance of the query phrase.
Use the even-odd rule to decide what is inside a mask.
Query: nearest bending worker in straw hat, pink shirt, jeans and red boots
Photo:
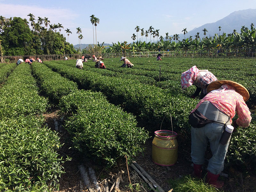
[[[194,174],[200,178],[204,154],[209,141],[212,158],[207,166],[206,182],[216,188],[221,188],[224,182],[217,181],[217,179],[224,169],[224,160],[230,140],[229,138],[226,145],[220,143],[222,132],[225,129],[224,125],[229,124],[228,127],[230,127],[232,118],[237,113],[238,118],[234,121],[233,126],[235,128],[249,126],[252,117],[245,104],[245,101],[249,99],[249,92],[243,85],[229,80],[213,81],[208,85],[207,92],[209,93],[200,100],[191,113],[197,110],[215,122],[208,123],[201,128],[191,126],[191,158],[194,163]],[[231,128],[233,127],[231,126]]]

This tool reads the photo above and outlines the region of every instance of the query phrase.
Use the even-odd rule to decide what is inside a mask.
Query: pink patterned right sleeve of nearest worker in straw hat
[[[242,96],[241,98],[237,98],[236,100],[236,113],[238,115],[236,123],[241,127],[248,127],[252,120],[252,117],[251,112],[245,104]]]

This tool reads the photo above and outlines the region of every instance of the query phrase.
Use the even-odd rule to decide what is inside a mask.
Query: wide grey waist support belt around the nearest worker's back
[[[197,110],[208,119],[220,122],[220,124],[225,124],[229,119],[226,113],[220,111],[210,101],[204,101]],[[230,125],[230,121],[228,121],[227,124]]]

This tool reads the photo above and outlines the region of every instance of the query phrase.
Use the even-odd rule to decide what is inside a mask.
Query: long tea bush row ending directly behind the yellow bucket
[[[126,111],[140,115],[144,122],[159,125],[167,115],[169,118],[166,118],[166,122],[170,127],[169,114],[171,114],[173,122],[176,124],[176,131],[190,127],[188,114],[196,105],[196,100],[182,95],[173,96],[159,87],[136,81],[127,83],[122,78],[101,76],[91,71],[60,65],[54,61],[45,62],[45,64],[75,81],[84,89],[103,92],[111,103],[122,105]]]

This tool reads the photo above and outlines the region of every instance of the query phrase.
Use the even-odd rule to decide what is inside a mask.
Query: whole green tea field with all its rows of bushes
[[[58,133],[45,126],[49,106],[60,108],[77,152],[104,166],[115,166],[124,156],[131,161],[163,119],[161,129],[170,130],[172,118],[173,131],[187,138],[179,145],[190,146],[188,115],[199,99],[190,98],[195,86],[181,90],[180,75],[194,65],[248,89],[252,122],[232,134],[225,167],[255,174],[255,60],[162,59],[129,58],[133,68],[119,68],[118,58],[105,59],[106,69],[88,61],[83,70],[75,68],[75,60],[1,64],[0,191],[58,189],[69,157],[58,155]]]

